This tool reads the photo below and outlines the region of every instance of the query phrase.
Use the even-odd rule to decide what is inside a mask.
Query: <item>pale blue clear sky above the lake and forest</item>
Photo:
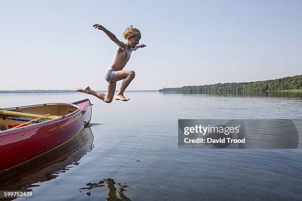
[[[0,90],[105,90],[105,70],[130,24],[148,46],[124,69],[129,90],[302,74],[302,1],[0,1]],[[120,82],[117,87],[120,86]]]

